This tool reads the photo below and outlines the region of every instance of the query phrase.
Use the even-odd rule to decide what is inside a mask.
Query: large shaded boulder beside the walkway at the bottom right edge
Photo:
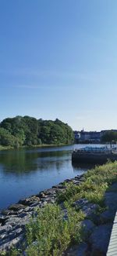
[[[111,231],[111,224],[99,225],[94,229],[89,239],[92,248],[90,255],[106,255]]]

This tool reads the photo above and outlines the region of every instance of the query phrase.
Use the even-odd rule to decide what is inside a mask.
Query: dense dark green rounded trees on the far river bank
[[[42,120],[30,116],[7,118],[0,123],[0,144],[20,147],[38,144],[71,144],[73,130],[55,119]]]

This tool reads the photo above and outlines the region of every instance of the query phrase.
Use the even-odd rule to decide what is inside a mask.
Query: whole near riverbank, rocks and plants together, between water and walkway
[[[1,254],[106,255],[116,205],[117,162],[96,166],[2,210]]]

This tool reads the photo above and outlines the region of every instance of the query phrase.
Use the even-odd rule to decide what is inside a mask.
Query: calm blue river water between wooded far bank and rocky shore
[[[87,171],[90,166],[72,166],[76,147],[79,145],[0,152],[0,209]]]

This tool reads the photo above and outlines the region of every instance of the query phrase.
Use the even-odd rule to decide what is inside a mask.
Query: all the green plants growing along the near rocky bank
[[[36,217],[27,225],[27,249],[24,249],[23,245],[26,255],[60,256],[71,244],[80,243],[85,237],[83,229],[80,228],[80,221],[85,216],[79,208],[73,207],[73,202],[86,198],[92,203],[97,203],[97,214],[101,213],[105,209],[105,192],[114,181],[117,181],[117,162],[89,170],[84,174],[80,185],[73,185],[72,182],[66,184],[65,192],[58,194],[57,204],[48,204],[38,209]],[[64,218],[60,202],[64,203],[68,218]],[[14,249],[8,255],[23,255],[23,251]]]

